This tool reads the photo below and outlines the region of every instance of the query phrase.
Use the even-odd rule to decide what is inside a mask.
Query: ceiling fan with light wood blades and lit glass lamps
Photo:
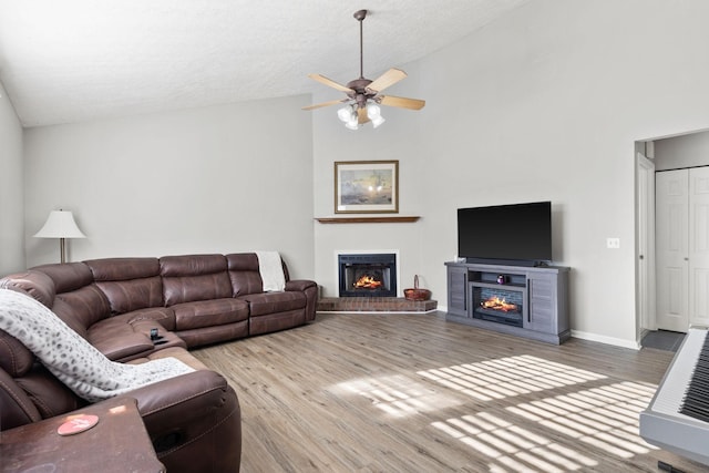
[[[368,122],[372,122],[374,127],[381,125],[384,119],[381,116],[379,105],[409,110],[421,110],[423,105],[425,105],[425,101],[423,100],[381,94],[384,89],[407,76],[407,73],[400,69],[392,68],[373,81],[364,78],[362,53],[362,21],[364,21],[364,18],[367,18],[367,10],[354,12],[354,19],[359,21],[359,79],[354,79],[348,82],[347,85],[342,85],[321,74],[308,75],[317,82],[345,92],[347,99],[332,100],[302,107],[302,110],[315,110],[338,103],[347,103],[345,107],[338,110],[337,115],[345,122],[345,126],[350,130],[357,130],[360,125]]]

